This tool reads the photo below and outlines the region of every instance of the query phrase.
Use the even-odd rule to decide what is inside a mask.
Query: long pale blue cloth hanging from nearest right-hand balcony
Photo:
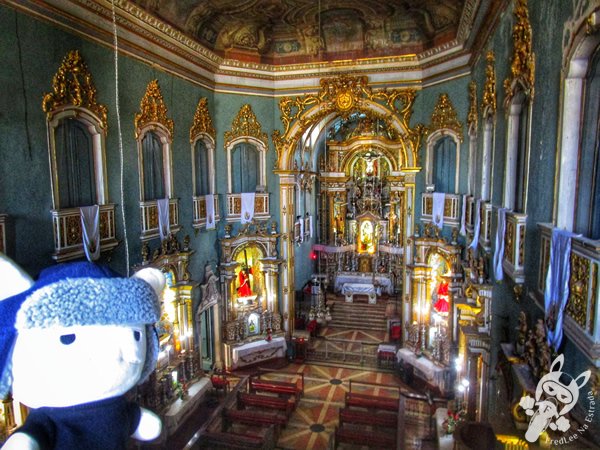
[[[571,238],[578,235],[554,228],[550,244],[550,267],[546,275],[544,307],[548,344],[556,351],[563,338],[564,310],[569,300],[571,277]]]

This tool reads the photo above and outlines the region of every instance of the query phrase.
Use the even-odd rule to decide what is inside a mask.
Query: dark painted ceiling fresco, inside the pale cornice
[[[131,0],[224,58],[284,65],[418,54],[468,0]]]

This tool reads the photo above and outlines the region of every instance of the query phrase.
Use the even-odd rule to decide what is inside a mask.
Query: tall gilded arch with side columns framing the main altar
[[[414,175],[420,170],[418,150],[424,134],[424,126],[410,126],[412,107],[416,91],[412,89],[373,90],[368,86],[367,77],[340,76],[322,79],[319,92],[301,97],[284,97],[280,100],[283,131],[272,134],[277,152],[275,173],[280,177],[280,230],[282,234],[281,256],[284,259],[280,274],[282,284],[282,313],[291,329],[294,318],[294,222],[295,186],[294,164],[303,161],[305,146],[302,139],[307,130],[320,124],[321,130],[338,117],[348,117],[359,112],[370,115],[386,124],[397,143],[394,159],[402,161],[399,168],[404,180],[396,181],[405,189],[407,210],[414,211]],[[300,144],[300,145],[299,145]],[[311,155],[316,158],[314,153]],[[414,219],[407,218],[404,232],[412,233]],[[404,261],[411,258],[411,250],[404,252]]]

